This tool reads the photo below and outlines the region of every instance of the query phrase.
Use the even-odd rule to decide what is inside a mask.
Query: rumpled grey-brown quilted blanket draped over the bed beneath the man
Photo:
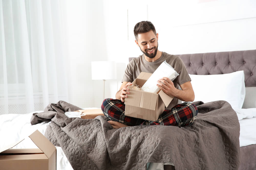
[[[191,126],[130,126],[112,129],[104,116],[68,118],[79,110],[65,101],[34,113],[31,124],[52,120],[45,136],[60,146],[73,169],[145,169],[147,162],[172,162],[175,169],[238,169],[240,126],[226,101],[194,102]]]

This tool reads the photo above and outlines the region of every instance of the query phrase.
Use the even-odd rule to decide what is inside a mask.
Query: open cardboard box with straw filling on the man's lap
[[[141,88],[151,73],[141,72],[137,79],[132,82],[132,85],[139,85]],[[162,78],[162,77],[160,77]],[[157,82],[155,82],[157,84]],[[157,121],[173,97],[167,95],[162,90],[158,94],[146,91],[132,89],[132,85],[128,86],[130,94],[125,99],[125,112],[124,115],[137,117],[140,119]]]

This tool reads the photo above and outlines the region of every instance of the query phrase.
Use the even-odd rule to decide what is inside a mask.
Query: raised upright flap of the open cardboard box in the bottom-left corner
[[[38,130],[29,135],[30,139],[36,144],[36,146],[41,149],[47,158],[50,159],[51,155],[56,150],[55,146]]]

